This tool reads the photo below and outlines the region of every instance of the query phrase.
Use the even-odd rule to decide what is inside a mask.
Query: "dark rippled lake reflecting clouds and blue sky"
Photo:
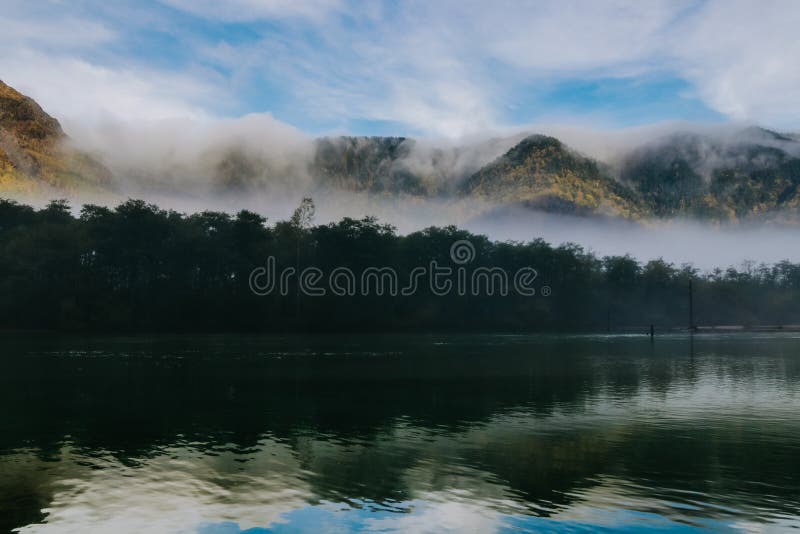
[[[0,336],[0,531],[800,527],[800,335]]]

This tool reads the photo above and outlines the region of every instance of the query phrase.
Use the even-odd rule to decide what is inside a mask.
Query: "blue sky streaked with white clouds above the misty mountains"
[[[793,0],[3,0],[0,80],[83,122],[797,131],[797,28]]]

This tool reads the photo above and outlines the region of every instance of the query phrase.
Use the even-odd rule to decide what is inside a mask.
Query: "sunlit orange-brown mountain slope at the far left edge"
[[[0,81],[0,192],[108,187],[110,172],[69,145],[56,119]]]

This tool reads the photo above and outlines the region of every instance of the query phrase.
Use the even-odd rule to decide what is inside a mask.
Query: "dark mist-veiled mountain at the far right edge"
[[[775,216],[800,206],[800,142],[761,128],[675,133],[630,152],[619,178],[658,217]]]

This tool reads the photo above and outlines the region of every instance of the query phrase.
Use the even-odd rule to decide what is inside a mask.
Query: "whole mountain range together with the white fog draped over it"
[[[795,221],[800,212],[800,139],[757,127],[674,129],[592,155],[530,132],[461,143],[311,138],[269,115],[72,130],[68,138],[0,83],[0,193],[277,203],[317,195],[343,203],[341,215],[354,199],[473,203],[482,217],[504,206],[631,221]]]

